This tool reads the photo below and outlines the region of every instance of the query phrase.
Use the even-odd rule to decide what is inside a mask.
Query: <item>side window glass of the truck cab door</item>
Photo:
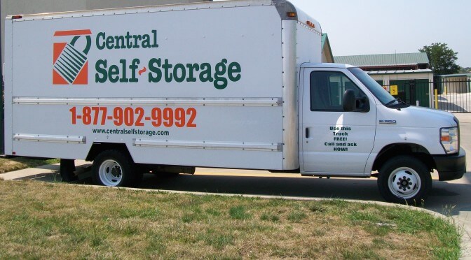
[[[354,82],[339,71],[311,72],[310,110],[343,111],[342,97],[347,89],[353,89],[357,99],[362,99],[365,96]],[[361,103],[358,105],[361,106]]]

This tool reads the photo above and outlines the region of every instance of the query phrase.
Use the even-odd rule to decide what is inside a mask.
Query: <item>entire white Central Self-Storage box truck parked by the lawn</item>
[[[6,17],[6,154],[93,161],[100,185],[196,166],[378,177],[414,203],[461,178],[453,115],[322,64],[321,27],[288,1]]]

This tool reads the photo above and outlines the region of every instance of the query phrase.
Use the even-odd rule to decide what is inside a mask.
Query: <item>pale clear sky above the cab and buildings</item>
[[[334,56],[418,52],[447,43],[471,67],[470,0],[290,0],[318,20]]]

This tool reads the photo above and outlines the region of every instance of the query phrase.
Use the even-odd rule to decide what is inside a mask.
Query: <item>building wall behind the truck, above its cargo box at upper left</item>
[[[175,3],[193,3],[212,0],[1,0],[1,64],[4,64],[4,32],[7,15],[56,13],[73,10],[93,10],[131,6],[157,6]]]

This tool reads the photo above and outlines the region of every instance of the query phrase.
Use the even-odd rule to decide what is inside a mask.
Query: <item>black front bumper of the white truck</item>
[[[458,154],[433,156],[439,180],[456,180],[466,172],[466,152],[460,147]]]

